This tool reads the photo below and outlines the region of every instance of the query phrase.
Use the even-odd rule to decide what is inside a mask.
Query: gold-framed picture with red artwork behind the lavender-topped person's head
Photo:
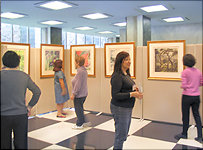
[[[71,45],[70,47],[70,72],[71,75],[77,73],[75,66],[75,58],[82,56],[85,58],[85,68],[87,69],[88,76],[95,77],[95,44],[88,45]]]

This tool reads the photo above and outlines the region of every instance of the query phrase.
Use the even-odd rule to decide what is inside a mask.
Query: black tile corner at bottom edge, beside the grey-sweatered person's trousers
[[[52,144],[28,137],[28,149],[43,149]]]

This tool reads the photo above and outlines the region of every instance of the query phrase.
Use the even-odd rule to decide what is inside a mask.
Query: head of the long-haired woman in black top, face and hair
[[[130,75],[130,55],[127,52],[120,52],[116,56],[114,64],[114,72],[123,73],[122,69],[126,70],[126,73]]]

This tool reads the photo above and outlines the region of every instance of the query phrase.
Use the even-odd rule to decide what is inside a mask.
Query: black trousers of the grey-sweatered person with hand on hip
[[[27,114],[1,116],[1,149],[12,149],[12,131],[14,133],[14,148],[28,149]]]

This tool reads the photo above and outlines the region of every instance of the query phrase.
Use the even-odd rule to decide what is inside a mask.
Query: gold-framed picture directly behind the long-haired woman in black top
[[[121,51],[125,51],[129,53],[131,58],[130,74],[132,78],[136,78],[135,77],[135,58],[136,58],[135,42],[104,44],[105,77],[111,77],[114,70],[116,55]]]

